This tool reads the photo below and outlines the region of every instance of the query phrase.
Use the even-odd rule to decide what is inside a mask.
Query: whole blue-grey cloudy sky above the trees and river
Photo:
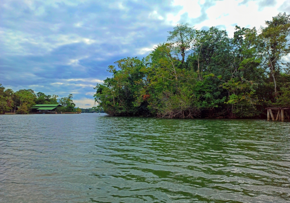
[[[177,23],[197,29],[260,27],[289,0],[1,0],[0,83],[14,91],[74,94],[94,106],[93,87],[125,57],[145,57]]]

